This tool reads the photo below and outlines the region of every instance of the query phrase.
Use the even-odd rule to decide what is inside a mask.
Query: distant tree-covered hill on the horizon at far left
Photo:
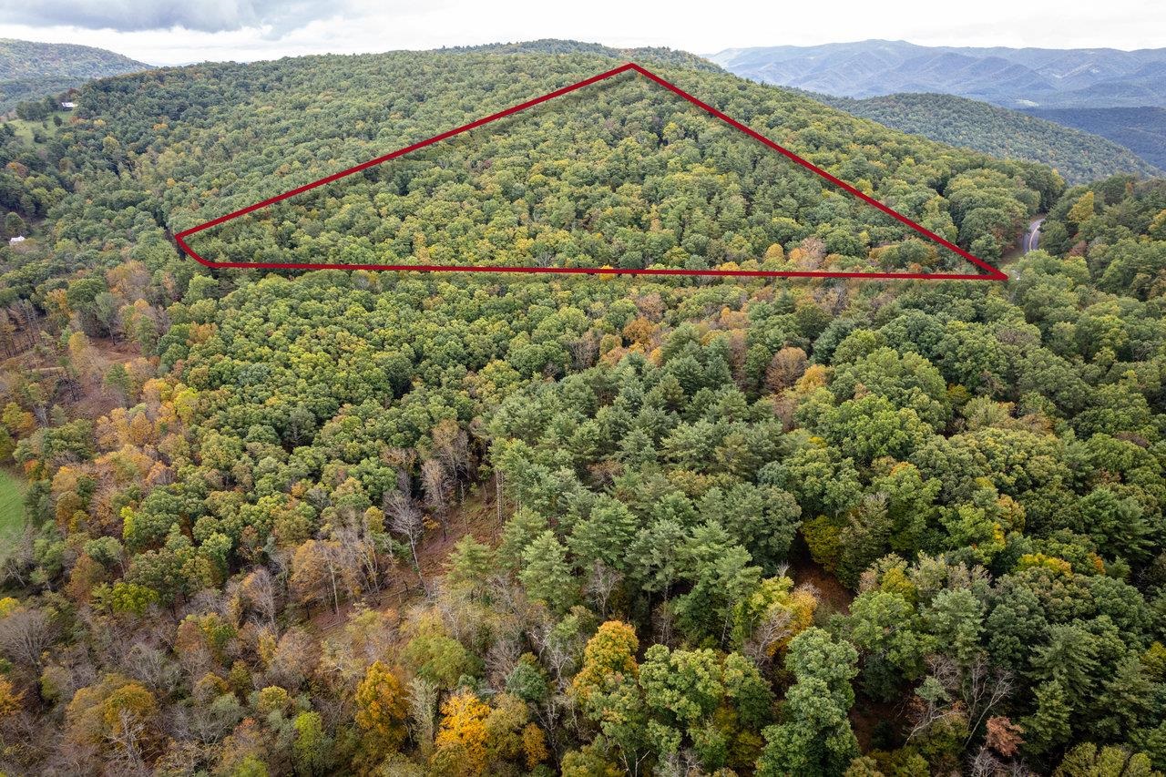
[[[91,78],[149,68],[145,62],[89,46],[0,38],[0,113],[21,100],[63,92]]]

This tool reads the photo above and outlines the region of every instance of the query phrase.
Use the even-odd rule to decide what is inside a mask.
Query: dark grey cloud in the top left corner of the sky
[[[342,13],[344,0],[0,0],[6,22],[139,32],[183,28],[220,33],[269,28],[274,33]]]

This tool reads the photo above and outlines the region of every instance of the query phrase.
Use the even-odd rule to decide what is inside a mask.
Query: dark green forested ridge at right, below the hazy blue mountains
[[[1026,159],[1055,168],[1069,183],[1084,183],[1119,173],[1163,175],[1129,148],[1082,132],[951,94],[887,94],[852,99],[813,94],[847,113],[894,130],[963,146],[1000,159]],[[1116,112],[1116,111],[1115,111]]]

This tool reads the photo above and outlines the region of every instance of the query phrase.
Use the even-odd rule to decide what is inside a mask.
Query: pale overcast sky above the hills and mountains
[[[858,41],[1118,49],[1166,46],[1153,0],[0,0],[0,37],[83,43],[152,64],[562,37],[614,47]]]

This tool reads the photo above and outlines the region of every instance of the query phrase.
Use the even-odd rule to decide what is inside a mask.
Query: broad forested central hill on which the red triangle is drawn
[[[78,117],[105,121],[108,163],[132,169],[180,231],[616,62],[409,52],[203,65],[94,84]],[[1061,186],[1046,167],[894,133],[728,74],[659,70],[988,260]],[[499,190],[512,217],[493,210]],[[342,206],[344,220],[319,220]],[[625,74],[192,245],[226,260],[970,270],[913,235]],[[810,237],[821,247],[809,256],[767,253]]]

